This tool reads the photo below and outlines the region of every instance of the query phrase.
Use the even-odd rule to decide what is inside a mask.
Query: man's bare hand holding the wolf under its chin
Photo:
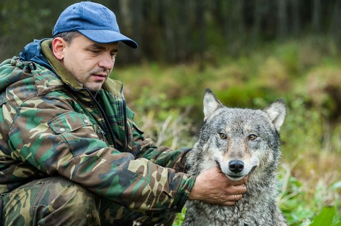
[[[233,206],[246,192],[246,180],[247,176],[241,180],[230,180],[219,167],[214,167],[197,176],[189,199]]]

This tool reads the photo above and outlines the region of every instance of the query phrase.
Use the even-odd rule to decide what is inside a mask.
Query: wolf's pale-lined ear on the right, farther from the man
[[[286,114],[285,101],[283,99],[279,99],[265,107],[263,111],[265,111],[268,114],[272,123],[275,125],[277,131],[280,131]]]

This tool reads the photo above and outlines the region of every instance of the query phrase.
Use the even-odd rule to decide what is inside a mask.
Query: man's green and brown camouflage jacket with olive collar
[[[180,211],[195,178],[189,149],[157,148],[133,122],[122,84],[108,79],[96,96],[80,87],[44,41],[55,72],[18,57],[0,64],[0,192],[62,175],[141,212]]]

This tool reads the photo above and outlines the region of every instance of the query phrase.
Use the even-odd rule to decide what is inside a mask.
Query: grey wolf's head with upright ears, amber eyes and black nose
[[[286,113],[283,99],[263,110],[228,108],[207,88],[203,102],[204,124],[196,143],[202,151],[196,158],[206,162],[205,167],[216,164],[233,180],[278,167],[279,131]]]

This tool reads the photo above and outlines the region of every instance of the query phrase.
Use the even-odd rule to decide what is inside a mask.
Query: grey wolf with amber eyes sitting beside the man
[[[230,207],[188,200],[182,226],[287,226],[275,205],[285,101],[263,110],[229,108],[207,88],[203,105],[204,123],[187,159],[189,174],[218,166],[231,180],[248,175],[247,191]]]

